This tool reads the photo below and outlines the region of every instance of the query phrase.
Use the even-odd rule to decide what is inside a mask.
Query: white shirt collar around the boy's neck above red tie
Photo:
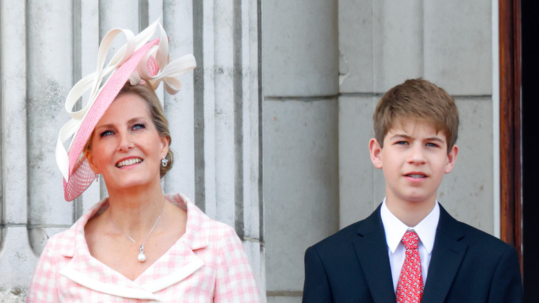
[[[433,210],[427,216],[417,224],[417,226],[406,226],[402,223],[393,213],[390,212],[386,205],[386,199],[381,205],[380,216],[382,223],[384,224],[384,231],[386,232],[386,243],[391,252],[395,252],[397,246],[401,243],[401,239],[404,236],[406,230],[415,230],[419,240],[426,248],[429,255],[433,251],[434,238],[436,235],[436,228],[439,221],[439,205],[436,201]]]

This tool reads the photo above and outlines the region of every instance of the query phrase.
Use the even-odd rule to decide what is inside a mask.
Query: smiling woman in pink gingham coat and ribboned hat
[[[158,29],[161,38],[146,43]],[[185,196],[162,194],[160,178],[173,156],[154,89],[164,80],[167,91],[178,91],[171,77],[194,68],[192,56],[168,64],[168,39],[158,23],[136,37],[109,32],[100,56],[122,32],[126,47],[68,95],[69,108],[81,87],[92,88],[89,106],[71,113],[57,146],[66,200],[84,192],[95,174],[103,176],[109,196],[49,239],[27,302],[258,302],[234,230]],[[100,82],[111,71],[101,88],[85,81]],[[72,135],[66,153],[62,143]]]

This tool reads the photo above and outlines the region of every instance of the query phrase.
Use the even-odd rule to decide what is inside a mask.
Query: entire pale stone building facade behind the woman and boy
[[[111,28],[161,18],[198,67],[159,91],[182,192],[234,226],[267,302],[301,302],[305,248],[384,199],[368,140],[381,95],[423,77],[453,95],[459,154],[438,199],[500,230],[498,3],[397,0],[0,0],[0,301],[23,302],[46,239],[106,196],[65,202],[54,149],[64,101]]]

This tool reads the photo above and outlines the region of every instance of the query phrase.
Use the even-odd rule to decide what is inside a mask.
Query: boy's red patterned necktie
[[[417,233],[408,230],[402,237],[402,244],[406,247],[406,259],[397,283],[397,303],[419,303],[423,296],[423,275]]]

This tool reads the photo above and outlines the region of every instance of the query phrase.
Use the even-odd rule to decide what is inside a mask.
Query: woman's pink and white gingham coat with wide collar
[[[186,232],[134,281],[90,255],[84,226],[108,208],[94,205],[47,242],[27,302],[259,302],[258,288],[234,230],[209,219],[181,194],[167,199],[187,210]]]

